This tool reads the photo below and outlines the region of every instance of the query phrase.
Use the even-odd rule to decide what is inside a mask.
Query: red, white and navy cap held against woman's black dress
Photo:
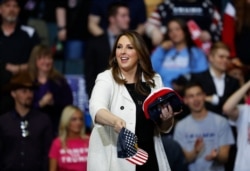
[[[174,112],[179,112],[183,107],[181,96],[169,87],[153,91],[143,102],[143,111],[147,119],[159,120],[161,108],[159,105],[170,104]]]

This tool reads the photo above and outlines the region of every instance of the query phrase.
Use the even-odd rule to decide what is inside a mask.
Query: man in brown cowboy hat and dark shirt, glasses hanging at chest
[[[5,86],[15,108],[0,116],[1,170],[48,170],[52,125],[45,114],[31,109],[34,88],[27,72],[14,75]]]

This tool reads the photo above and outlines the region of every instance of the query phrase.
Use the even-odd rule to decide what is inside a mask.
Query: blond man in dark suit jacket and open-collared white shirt
[[[193,74],[191,78],[203,86],[206,107],[219,114],[222,114],[226,99],[239,88],[239,82],[226,73],[229,55],[229,49],[224,43],[214,43],[208,55],[209,69]]]

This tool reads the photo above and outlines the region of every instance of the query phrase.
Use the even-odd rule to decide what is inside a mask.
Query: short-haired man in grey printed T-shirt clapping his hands
[[[224,171],[233,133],[224,117],[206,109],[205,98],[199,83],[186,85],[183,100],[191,113],[176,124],[174,140],[181,145],[190,171]]]

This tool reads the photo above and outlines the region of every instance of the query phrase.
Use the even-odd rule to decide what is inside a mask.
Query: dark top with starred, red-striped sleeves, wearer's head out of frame
[[[172,18],[182,18],[186,21],[193,19],[197,24],[211,33],[213,40],[220,40],[222,18],[220,12],[210,0],[190,3],[186,1],[164,0],[150,14],[146,22],[146,33],[152,36],[155,28],[166,33],[166,24]],[[204,24],[204,20],[209,23]]]

